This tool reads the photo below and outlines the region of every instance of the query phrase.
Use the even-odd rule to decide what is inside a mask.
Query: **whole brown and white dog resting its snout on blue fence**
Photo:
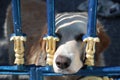
[[[27,34],[26,64],[46,65],[46,51],[43,36],[47,33],[46,4],[42,1],[25,0],[22,5],[22,30]],[[32,11],[33,10],[33,11]],[[12,30],[12,18],[8,10],[7,24]],[[31,12],[29,12],[31,11]],[[87,32],[87,13],[59,13],[56,15],[55,33],[60,39],[53,59],[53,69],[56,73],[73,74],[84,66],[85,43],[82,37]],[[103,51],[108,47],[110,39],[103,25],[97,21],[97,35],[100,39],[96,43],[95,66],[103,66]],[[47,80],[76,80],[73,77],[46,77]]]

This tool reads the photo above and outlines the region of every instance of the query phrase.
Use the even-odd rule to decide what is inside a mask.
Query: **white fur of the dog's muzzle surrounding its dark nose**
[[[77,43],[75,41],[69,41],[61,45],[57,49],[53,59],[53,69],[56,73],[73,74],[79,71],[81,67],[83,67],[83,63],[80,60],[79,48],[76,46],[76,44]],[[59,55],[62,55],[71,59],[71,64],[68,68],[60,69],[59,67],[57,67],[56,58]]]

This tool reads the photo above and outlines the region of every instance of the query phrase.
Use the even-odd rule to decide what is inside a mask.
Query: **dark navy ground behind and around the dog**
[[[5,21],[6,9],[11,0],[0,0],[0,39],[3,37],[3,24]],[[78,5],[84,0],[56,0],[57,12],[77,12]],[[120,0],[114,0],[114,2],[120,2]],[[106,64],[111,66],[120,65],[120,17],[99,17],[103,23],[106,32],[110,36],[111,44],[105,51]],[[1,55],[0,55],[1,56]],[[4,57],[1,57],[4,58]]]

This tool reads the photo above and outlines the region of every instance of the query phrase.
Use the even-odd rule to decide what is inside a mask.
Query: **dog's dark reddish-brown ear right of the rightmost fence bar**
[[[109,46],[110,44],[110,38],[106,34],[103,25],[97,21],[97,34],[100,39],[100,42],[96,43],[96,53],[95,53],[95,62],[96,65],[99,65],[99,63],[102,63],[101,59],[103,59],[102,52]]]

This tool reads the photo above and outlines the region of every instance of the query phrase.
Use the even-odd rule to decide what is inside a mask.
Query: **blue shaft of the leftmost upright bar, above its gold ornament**
[[[13,23],[14,23],[14,33],[16,36],[22,35],[21,29],[21,9],[20,9],[20,0],[12,0],[12,14],[13,14]]]

